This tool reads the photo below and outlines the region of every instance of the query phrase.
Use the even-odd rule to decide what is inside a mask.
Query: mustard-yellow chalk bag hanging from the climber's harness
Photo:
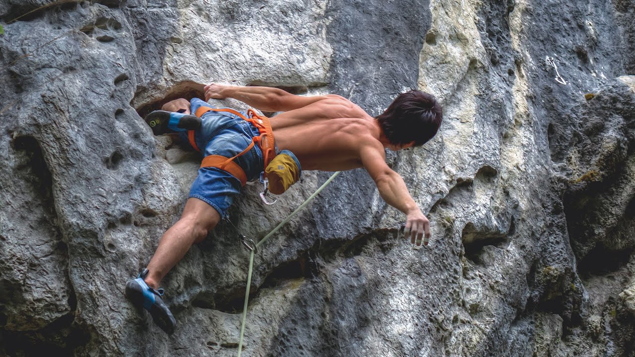
[[[302,167],[293,152],[281,151],[265,168],[265,177],[269,180],[269,192],[282,194],[300,180],[300,173],[302,173]]]

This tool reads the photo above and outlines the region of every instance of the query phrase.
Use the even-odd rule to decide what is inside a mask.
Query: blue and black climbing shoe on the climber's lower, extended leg
[[[174,332],[174,328],[177,327],[177,320],[174,319],[170,309],[163,302],[161,297],[163,296],[163,289],[154,290],[150,288],[144,278],[148,275],[148,269],[139,274],[137,279],[130,280],[126,283],[126,297],[132,301],[137,307],[144,307],[149,311],[152,320],[156,323],[161,330],[171,335]]]

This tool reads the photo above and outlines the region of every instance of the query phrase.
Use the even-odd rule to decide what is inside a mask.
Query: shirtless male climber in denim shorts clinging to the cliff
[[[409,149],[434,137],[443,116],[434,96],[408,91],[373,118],[339,95],[302,97],[277,88],[222,84],[210,84],[204,90],[206,100],[234,98],[260,111],[282,113],[271,119],[267,129],[259,124],[269,121],[266,118],[245,120],[252,120],[253,112],[215,109],[198,98],[191,102],[180,98],[146,117],[155,134],[177,131],[184,142],[202,149],[204,154],[181,219],[163,234],[147,268],[126,283],[128,298],[147,309],[165,332],[174,331],[176,320],[161,300],[163,289],[157,288],[159,283],[192,244],[202,241],[227,216],[241,185],[259,177],[272,157],[286,159],[284,165],[293,166],[293,182],[298,179],[300,167],[323,171],[365,168],[386,203],[406,214],[404,231],[411,243],[420,245],[425,235],[427,245],[429,221],[401,176],[385,163],[384,149]],[[267,130],[273,131],[275,151],[271,135],[264,135],[267,138],[253,145],[254,138]],[[293,182],[284,181],[285,188]]]

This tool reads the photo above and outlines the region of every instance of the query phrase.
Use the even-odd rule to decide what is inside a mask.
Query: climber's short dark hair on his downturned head
[[[441,126],[443,109],[434,95],[418,90],[400,94],[377,121],[389,142],[394,145],[415,142],[421,146]]]

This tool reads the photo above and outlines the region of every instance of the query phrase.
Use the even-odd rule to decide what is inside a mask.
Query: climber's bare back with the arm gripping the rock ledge
[[[377,166],[378,173],[385,171],[377,121],[344,97],[303,97],[271,87],[217,83],[204,90],[206,100],[235,98],[261,111],[283,112],[271,118],[276,145],[292,151],[302,170],[361,168],[364,156],[366,165]]]

